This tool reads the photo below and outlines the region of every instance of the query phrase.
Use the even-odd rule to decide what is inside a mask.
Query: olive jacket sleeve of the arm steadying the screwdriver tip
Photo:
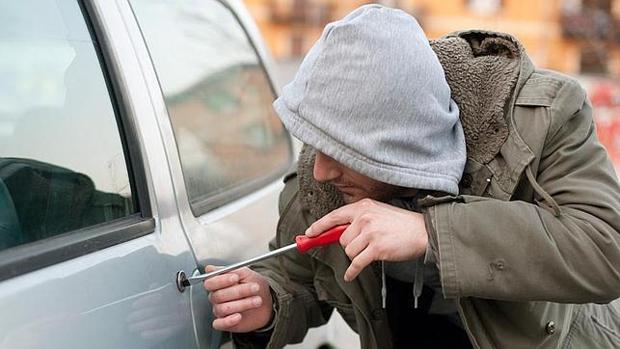
[[[310,223],[310,217],[298,199],[297,179],[290,179],[280,195],[278,234],[269,243],[269,249],[293,243],[294,236],[305,231]],[[327,322],[333,309],[317,298],[314,261],[308,255],[285,253],[258,263],[253,269],[267,277],[275,295],[275,324],[270,334],[234,334],[233,340],[238,348],[264,348],[265,342],[268,342],[267,348],[299,343],[309,328]]]

